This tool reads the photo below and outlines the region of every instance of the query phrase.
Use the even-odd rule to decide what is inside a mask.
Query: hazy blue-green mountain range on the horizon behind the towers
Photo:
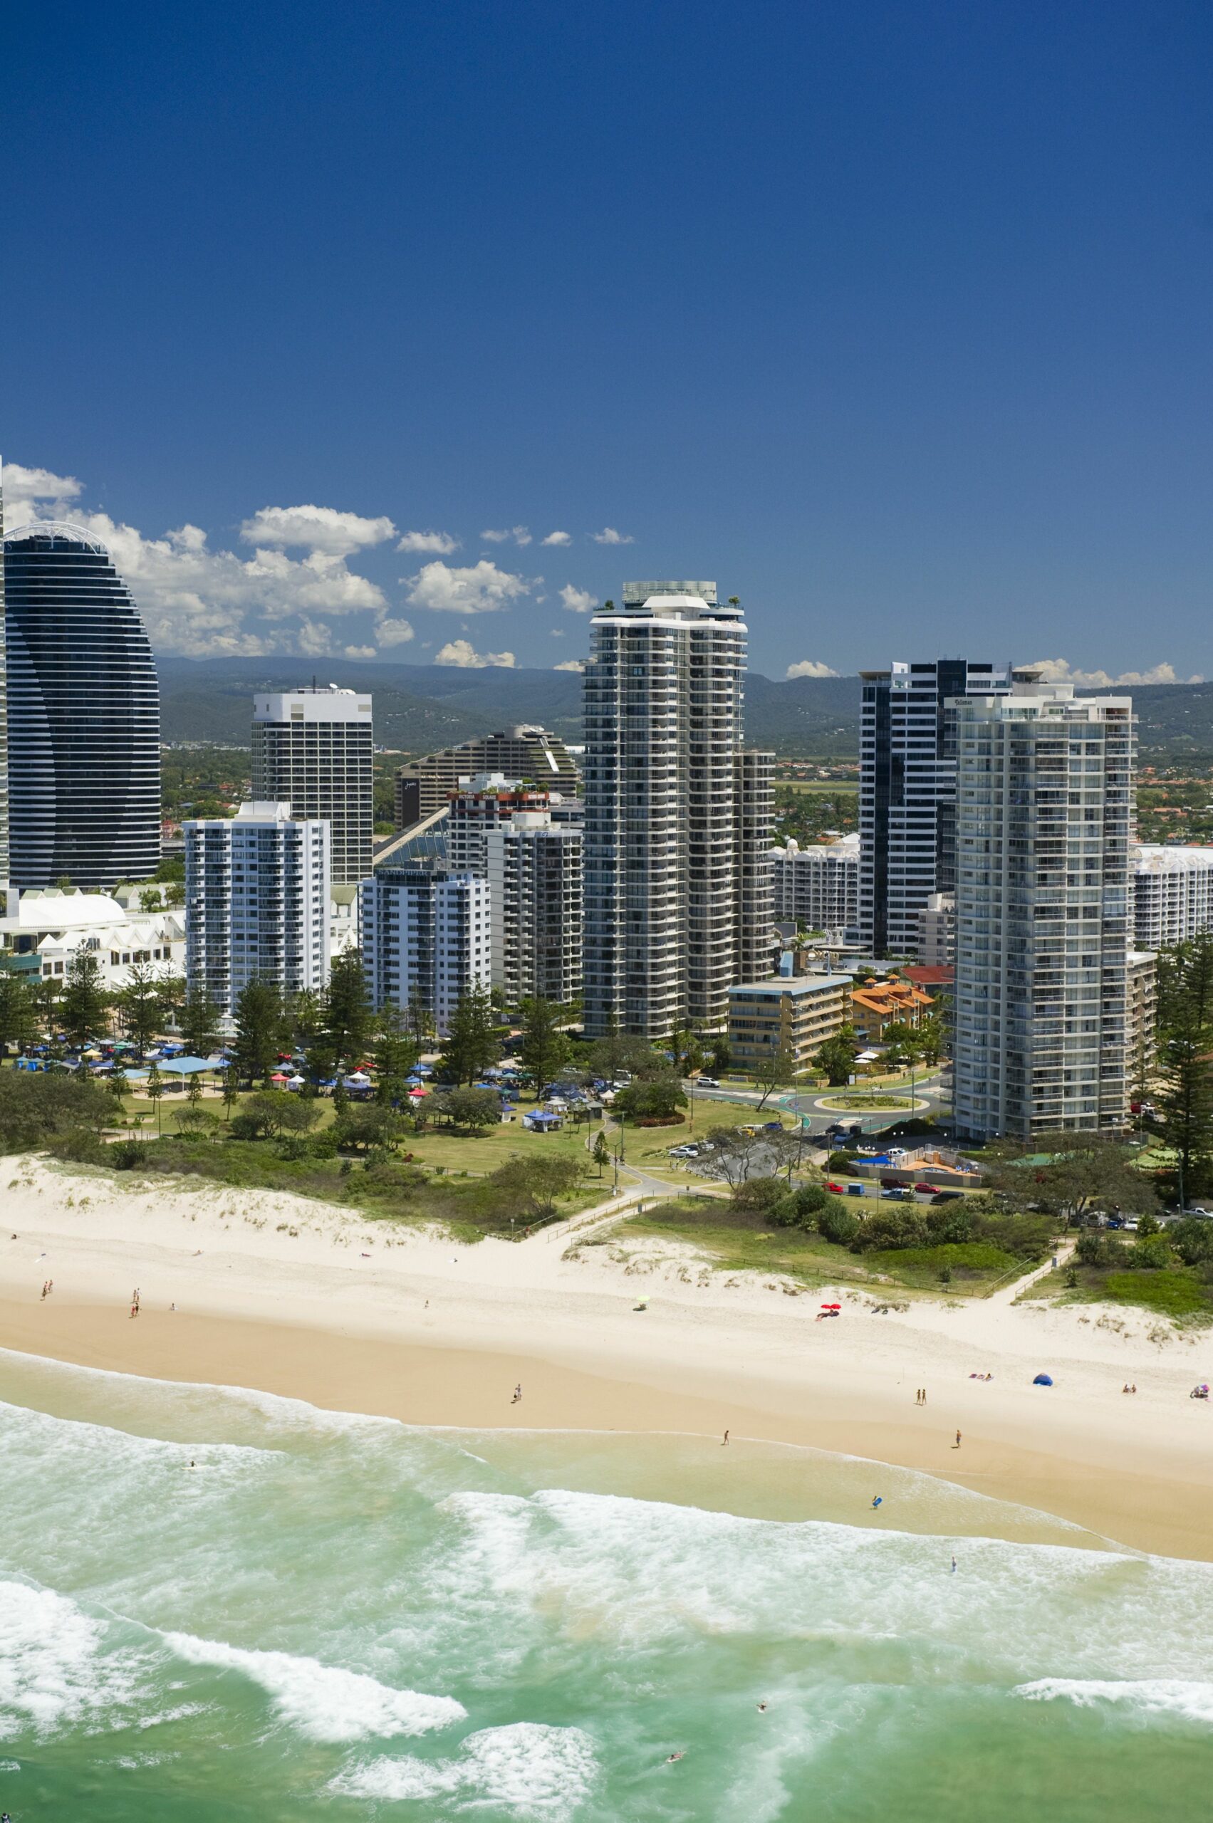
[[[297,658],[159,658],[157,665],[164,736],[171,742],[246,747],[254,691],[297,689],[312,680],[308,660]],[[376,738],[403,753],[429,753],[511,722],[542,722],[565,740],[578,740],[582,729],[582,680],[575,671],[325,658],[316,682],[372,691]],[[1146,684],[1131,696],[1144,751],[1213,757],[1213,684]],[[746,738],[784,755],[857,753],[859,678],[775,682],[752,671]]]

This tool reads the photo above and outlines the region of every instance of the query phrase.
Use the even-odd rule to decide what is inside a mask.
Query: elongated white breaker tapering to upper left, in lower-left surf
[[[365,1672],[347,1672],[290,1652],[246,1652],[224,1641],[195,1639],[193,1633],[164,1633],[164,1641],[188,1664],[241,1672],[261,1684],[283,1721],[310,1741],[427,1734],[467,1715],[454,1697],[392,1690]]]

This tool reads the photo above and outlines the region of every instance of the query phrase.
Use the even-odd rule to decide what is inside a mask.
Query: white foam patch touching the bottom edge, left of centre
[[[520,1721],[469,1734],[451,1759],[370,1759],[339,1774],[330,1790],[396,1803],[456,1797],[460,1808],[494,1807],[518,1823],[564,1823],[596,1777],[595,1743],[580,1728]]]

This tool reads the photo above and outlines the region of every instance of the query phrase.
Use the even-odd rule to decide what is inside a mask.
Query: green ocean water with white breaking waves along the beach
[[[0,1354],[0,1808],[1193,1819],[1213,1566],[817,1451]]]

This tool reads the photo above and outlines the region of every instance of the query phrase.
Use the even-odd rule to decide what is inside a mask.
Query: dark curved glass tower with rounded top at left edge
[[[161,693],[109,552],[73,525],[4,540],[13,884],[104,891],[161,860]]]

